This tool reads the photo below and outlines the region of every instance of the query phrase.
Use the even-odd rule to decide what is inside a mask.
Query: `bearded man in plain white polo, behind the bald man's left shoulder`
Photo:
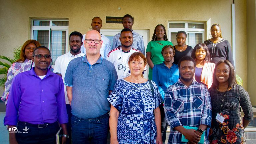
[[[82,42],[83,35],[80,32],[74,31],[70,33],[69,35],[69,47],[70,51],[64,55],[59,56],[54,65],[54,70],[53,72],[58,74],[59,76],[62,77],[62,80],[64,81],[65,79],[65,74],[66,70],[68,67],[68,64],[71,60],[74,58],[78,58],[81,56],[84,56],[85,54],[81,52],[81,45],[83,44]],[[71,107],[68,101],[67,97],[67,91],[66,91],[66,86],[64,86],[64,91],[65,91],[65,100],[66,100],[66,108],[67,108],[67,113],[68,113],[68,123],[67,123],[67,128],[68,128],[68,133],[71,136],[71,124],[70,124],[70,119],[71,119]],[[70,143],[71,137],[67,139],[66,143]]]

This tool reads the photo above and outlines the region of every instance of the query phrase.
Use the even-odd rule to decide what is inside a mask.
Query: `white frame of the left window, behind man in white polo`
[[[33,26],[33,21],[50,21],[49,26]],[[51,42],[51,31],[66,31],[66,46],[65,46],[65,53],[68,51],[68,44],[69,44],[69,32],[68,26],[52,26],[52,21],[68,21],[67,19],[31,19],[31,39],[34,36],[34,30],[48,30],[49,31],[49,42],[48,49],[50,49],[50,42]]]

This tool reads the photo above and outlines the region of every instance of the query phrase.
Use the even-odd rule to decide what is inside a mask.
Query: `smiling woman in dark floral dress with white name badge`
[[[235,71],[228,60],[217,63],[209,93],[212,102],[210,143],[245,143],[244,128],[253,119],[252,105],[248,93],[236,84]],[[244,112],[243,119],[240,106]]]

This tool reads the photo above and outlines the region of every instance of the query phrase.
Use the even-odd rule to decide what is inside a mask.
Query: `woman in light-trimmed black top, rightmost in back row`
[[[219,24],[213,24],[211,26],[211,35],[212,38],[206,40],[204,43],[209,49],[212,63],[217,64],[220,60],[228,60],[235,67],[231,46],[226,39],[222,38]]]

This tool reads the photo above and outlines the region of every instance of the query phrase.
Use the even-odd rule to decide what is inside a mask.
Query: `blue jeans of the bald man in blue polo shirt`
[[[106,144],[109,132],[108,113],[94,119],[71,117],[72,144]]]

